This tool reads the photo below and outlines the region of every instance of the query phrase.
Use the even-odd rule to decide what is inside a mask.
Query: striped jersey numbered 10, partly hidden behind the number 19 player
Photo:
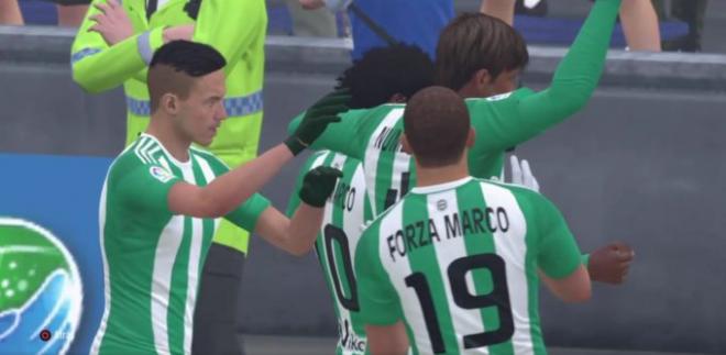
[[[353,257],[363,226],[372,217],[365,195],[365,178],[361,162],[342,154],[321,151],[305,163],[294,191],[299,191],[302,178],[318,166],[330,166],[343,171],[324,215],[315,248],[320,262],[330,297],[338,317],[339,342],[336,354],[364,354],[365,328],[358,313],[358,284],[353,274]],[[300,199],[293,193],[287,214],[293,215]]]

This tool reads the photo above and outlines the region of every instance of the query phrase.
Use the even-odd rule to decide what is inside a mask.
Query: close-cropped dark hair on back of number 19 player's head
[[[464,100],[444,87],[426,88],[408,100],[404,133],[416,160],[425,167],[457,163],[471,129]]]

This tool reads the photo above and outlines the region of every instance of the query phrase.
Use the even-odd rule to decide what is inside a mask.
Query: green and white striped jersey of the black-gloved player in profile
[[[228,170],[194,147],[178,162],[148,134],[113,162],[99,208],[106,303],[91,353],[190,353],[199,277],[219,220],[174,214],[167,195],[178,181],[206,186]],[[268,206],[254,195],[226,218],[253,231]]]

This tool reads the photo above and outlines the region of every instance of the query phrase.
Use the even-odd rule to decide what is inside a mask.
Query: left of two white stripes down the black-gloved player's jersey
[[[154,255],[154,274],[152,276],[152,330],[154,332],[154,348],[157,354],[169,353],[168,324],[166,315],[172,291],[172,270],[179,251],[184,233],[184,215],[175,215],[164,226],[158,238]]]

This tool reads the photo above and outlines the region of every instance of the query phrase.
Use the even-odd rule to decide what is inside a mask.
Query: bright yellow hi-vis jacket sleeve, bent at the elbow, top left
[[[164,29],[156,27],[109,46],[99,33],[89,32],[96,24],[90,16],[100,12],[95,4],[103,1],[95,0],[88,7],[70,49],[73,79],[88,92],[113,89],[131,77],[145,81],[143,73],[154,52],[164,44]]]

